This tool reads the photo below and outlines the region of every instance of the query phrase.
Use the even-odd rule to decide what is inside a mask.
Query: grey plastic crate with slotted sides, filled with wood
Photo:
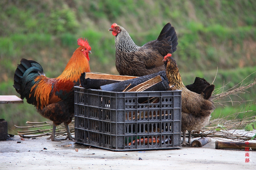
[[[75,86],[79,144],[112,151],[179,148],[180,120],[181,90],[109,92]]]

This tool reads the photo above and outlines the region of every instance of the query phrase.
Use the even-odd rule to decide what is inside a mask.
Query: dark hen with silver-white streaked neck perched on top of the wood
[[[111,25],[116,44],[116,69],[120,75],[143,76],[165,71],[162,60],[176,51],[178,37],[174,27],[167,23],[156,40],[137,46],[129,33],[116,23]]]

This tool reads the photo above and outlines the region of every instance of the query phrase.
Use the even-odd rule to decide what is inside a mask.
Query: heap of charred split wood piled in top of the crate
[[[83,73],[80,87],[114,92],[165,91],[169,82],[165,71],[141,77],[99,73]]]

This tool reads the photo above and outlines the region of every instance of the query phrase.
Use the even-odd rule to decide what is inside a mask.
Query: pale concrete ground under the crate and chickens
[[[255,169],[256,152],[252,151],[250,157],[245,157],[245,153],[245,150],[215,149],[214,139],[203,147],[113,152],[69,140],[53,142],[46,137],[21,140],[14,136],[0,141],[0,169]],[[245,158],[250,158],[250,162],[245,163]]]

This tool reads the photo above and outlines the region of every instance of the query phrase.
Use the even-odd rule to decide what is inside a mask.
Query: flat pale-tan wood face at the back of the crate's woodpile
[[[124,76],[124,75],[112,75],[112,74],[100,74],[100,73],[85,73],[85,79],[106,79],[106,80],[130,80],[137,77],[134,76]]]

